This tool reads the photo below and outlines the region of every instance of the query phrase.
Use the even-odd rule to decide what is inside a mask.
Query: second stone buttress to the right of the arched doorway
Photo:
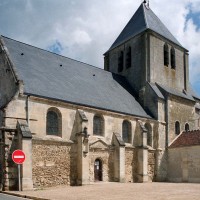
[[[138,182],[148,182],[148,148],[147,148],[147,130],[142,122],[141,127],[141,145],[138,148]]]

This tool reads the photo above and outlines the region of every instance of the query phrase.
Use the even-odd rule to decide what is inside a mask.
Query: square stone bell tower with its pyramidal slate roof
[[[188,90],[188,51],[149,1],[142,2],[104,56],[104,69],[125,76],[138,95],[147,83]]]

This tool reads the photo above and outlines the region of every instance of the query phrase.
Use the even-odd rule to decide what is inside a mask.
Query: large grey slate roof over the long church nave
[[[1,41],[25,94],[150,118],[124,77],[4,36]]]

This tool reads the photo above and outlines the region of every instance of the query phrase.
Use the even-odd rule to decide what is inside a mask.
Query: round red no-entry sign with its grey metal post
[[[21,184],[21,164],[25,161],[25,153],[22,150],[15,150],[12,153],[12,160],[18,165],[18,184],[19,184],[19,191],[22,191],[22,184]]]

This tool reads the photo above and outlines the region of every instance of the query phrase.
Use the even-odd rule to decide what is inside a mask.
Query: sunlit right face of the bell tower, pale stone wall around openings
[[[164,44],[167,42],[169,47],[169,65],[164,66]],[[170,66],[170,49],[175,48],[176,69]],[[150,81],[176,88],[179,91],[184,89],[184,50],[170,43],[163,38],[155,35],[150,36]],[[186,63],[187,64],[187,63]],[[161,76],[162,74],[162,76]]]

